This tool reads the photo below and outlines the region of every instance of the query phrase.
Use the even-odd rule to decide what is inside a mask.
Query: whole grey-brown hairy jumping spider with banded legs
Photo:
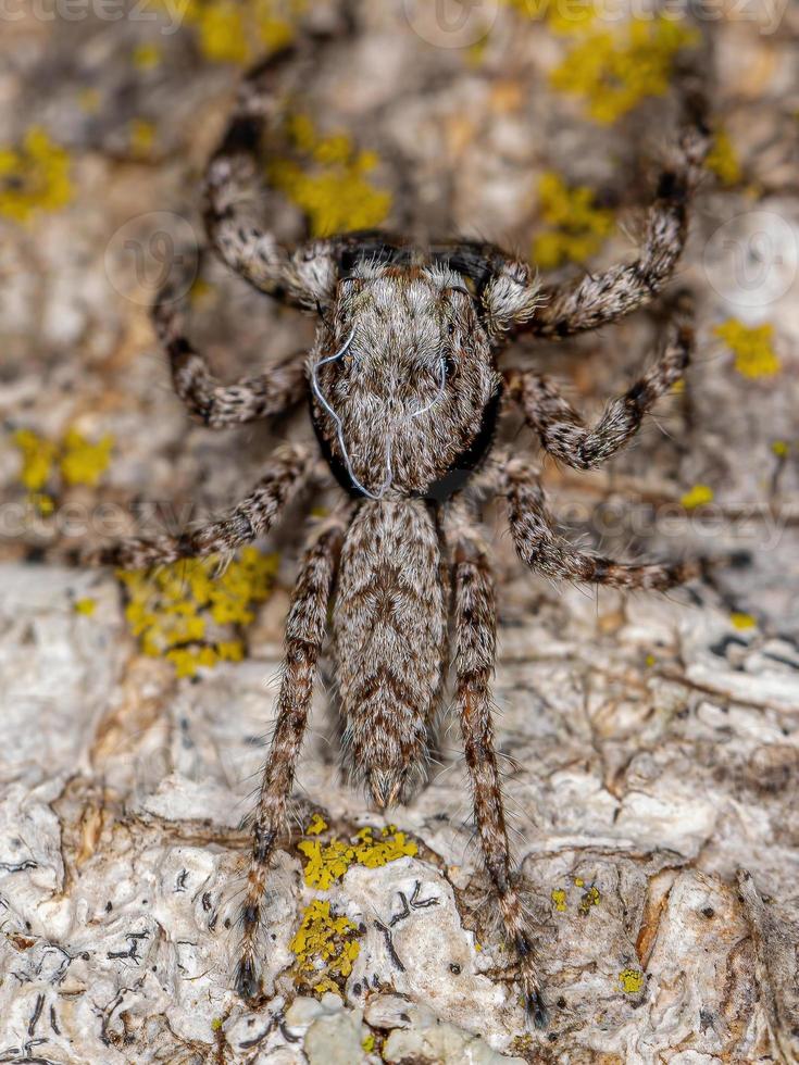
[[[347,754],[379,807],[407,800],[424,775],[448,669],[451,612],[454,698],[479,843],[515,944],[527,1006],[544,1024],[492,743],[497,612],[476,492],[488,487],[507,499],[519,555],[550,578],[664,590],[696,575],[696,565],[625,565],[575,550],[554,527],[534,463],[491,453],[501,404],[512,401],[550,454],[580,469],[599,465],[681,378],[692,336],[685,315],[676,315],[651,369],[610,403],[594,428],[551,380],[502,373],[498,353],[522,328],[549,338],[596,329],[659,292],[683,249],[707,131],[699,120],[686,124],[660,177],[638,258],[571,286],[541,288],[527,263],[482,242],[419,249],[367,233],[289,250],[246,221],[245,201],[255,180],[262,127],[277,106],[276,71],[291,57],[291,50],[274,57],[245,80],[209,165],[205,218],[212,243],[234,271],[260,291],[319,314],[310,354],[223,386],[183,335],[175,304],[162,300],[155,309],[175,390],[192,415],[224,428],[278,414],[304,398],[319,449],[347,496],[313,535],[286,623],[277,719],[253,822],[237,987],[248,999],[260,991],[262,898],[335,590],[333,644]],[[319,462],[315,449],[282,447],[224,521],[178,537],[112,544],[102,560],[142,568],[229,553],[274,525]]]

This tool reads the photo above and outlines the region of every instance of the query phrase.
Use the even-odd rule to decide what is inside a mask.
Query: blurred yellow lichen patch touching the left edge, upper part
[[[27,222],[72,199],[70,155],[47,130],[32,126],[18,148],[0,147],[0,215]]]

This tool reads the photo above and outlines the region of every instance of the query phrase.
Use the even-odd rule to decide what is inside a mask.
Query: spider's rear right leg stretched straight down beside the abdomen
[[[488,552],[458,502],[447,515],[453,552],[454,663],[458,710],[474,817],[483,859],[497,893],[502,924],[519,956],[525,1004],[537,1027],[546,1025],[536,965],[521,900],[511,875],[502,790],[494,751],[490,680],[497,642],[497,607]]]

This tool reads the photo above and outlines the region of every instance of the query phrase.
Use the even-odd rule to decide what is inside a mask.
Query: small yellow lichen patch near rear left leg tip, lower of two
[[[349,917],[336,915],[329,902],[315,899],[303,910],[300,927],[289,943],[297,986],[316,994],[338,991],[361,949],[357,936],[358,926]]]

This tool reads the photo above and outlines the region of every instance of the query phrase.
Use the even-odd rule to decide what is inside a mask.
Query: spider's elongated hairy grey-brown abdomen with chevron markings
[[[378,806],[403,801],[424,777],[446,661],[438,539],[421,500],[362,504],[341,554],[334,640],[352,773]]]

